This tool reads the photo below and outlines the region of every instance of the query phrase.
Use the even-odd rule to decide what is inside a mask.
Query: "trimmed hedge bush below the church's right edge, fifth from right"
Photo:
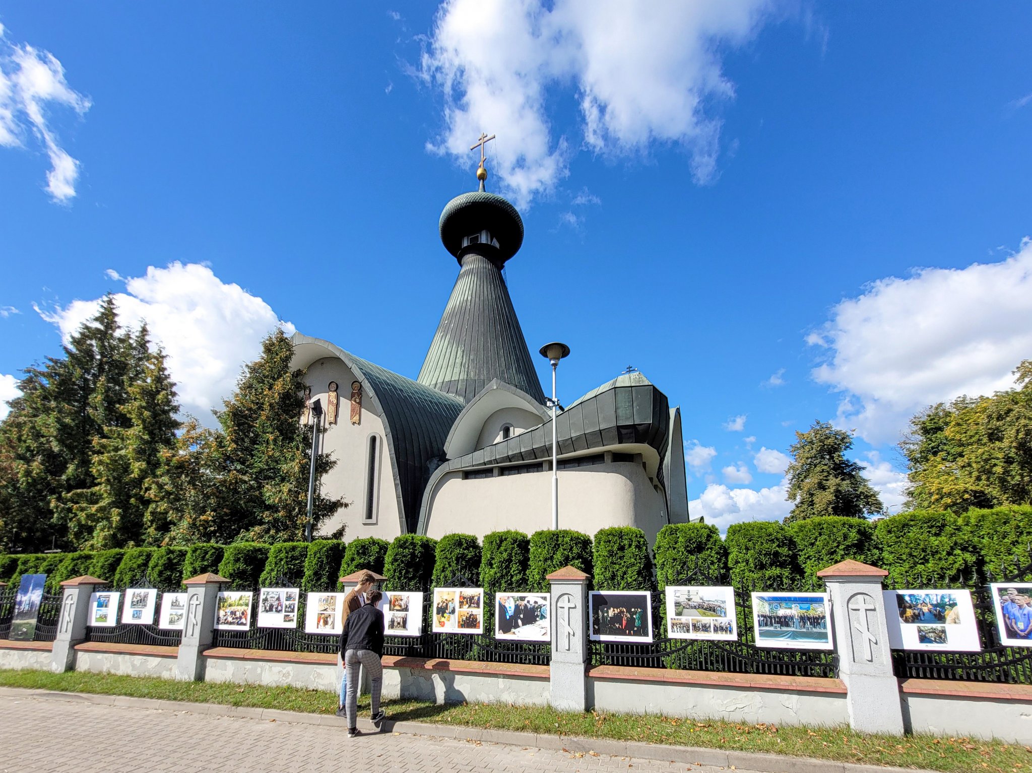
[[[667,585],[727,584],[728,548],[709,524],[670,524],[655,538],[655,577]]]

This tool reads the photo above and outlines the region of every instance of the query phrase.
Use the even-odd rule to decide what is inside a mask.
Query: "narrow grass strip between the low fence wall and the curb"
[[[336,709],[336,697],[318,690],[180,682],[157,677],[75,671],[53,674],[49,671],[0,669],[0,685],[322,714],[332,713]],[[367,696],[360,701],[360,707],[368,710]],[[868,765],[927,768],[947,773],[1032,773],[1032,748],[960,737],[915,735],[898,738],[863,735],[841,727],[776,727],[769,724],[695,720],[655,714],[606,714],[595,711],[573,713],[555,711],[549,707],[506,704],[463,703],[439,706],[424,701],[396,700],[386,701],[384,707],[392,719],[439,725],[792,754]]]

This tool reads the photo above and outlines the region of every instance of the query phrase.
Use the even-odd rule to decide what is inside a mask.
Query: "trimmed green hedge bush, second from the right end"
[[[952,512],[901,512],[879,520],[874,535],[881,568],[897,587],[975,581],[977,544]]]

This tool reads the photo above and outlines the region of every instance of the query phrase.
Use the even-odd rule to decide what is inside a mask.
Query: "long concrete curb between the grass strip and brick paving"
[[[295,722],[298,725],[325,725],[344,729],[347,721],[330,714],[309,714],[280,709],[249,708],[246,706],[221,706],[209,703],[188,701],[159,701],[153,698],[128,698],[126,696],[97,695],[94,693],[58,693],[50,690],[25,690],[22,687],[0,687],[0,696],[9,698],[33,698],[37,700],[72,701],[97,706],[122,706],[159,711],[189,711],[194,714],[225,716],[238,719],[264,719],[266,721]],[[358,727],[365,732],[376,728],[368,719],[359,719]],[[405,733],[406,735],[454,738],[481,743],[503,743],[511,746],[591,753],[607,757],[633,757],[639,760],[681,763],[684,765],[711,765],[739,770],[765,771],[765,773],[935,773],[914,768],[889,768],[880,765],[857,765],[833,760],[814,760],[783,754],[764,754],[748,751],[723,751],[721,749],[697,748],[695,746],[665,746],[638,741],[614,741],[607,738],[585,738],[582,736],[537,735],[509,730],[485,730],[461,725],[432,725],[430,722],[384,721],[384,733]]]

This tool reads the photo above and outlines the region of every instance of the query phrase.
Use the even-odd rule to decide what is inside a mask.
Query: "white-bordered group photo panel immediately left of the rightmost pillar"
[[[832,649],[828,594],[753,593],[757,647]]]

